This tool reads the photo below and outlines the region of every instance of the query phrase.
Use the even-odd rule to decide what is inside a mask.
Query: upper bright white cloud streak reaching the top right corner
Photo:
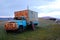
[[[55,2],[52,2],[48,5],[43,5],[43,6],[39,6],[37,7],[37,9],[46,9],[46,8],[51,8],[51,9],[60,9],[60,1],[55,1]]]

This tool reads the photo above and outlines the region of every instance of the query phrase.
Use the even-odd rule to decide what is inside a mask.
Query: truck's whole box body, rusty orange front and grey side
[[[15,17],[25,16],[28,21],[38,21],[38,13],[31,10],[15,12]]]

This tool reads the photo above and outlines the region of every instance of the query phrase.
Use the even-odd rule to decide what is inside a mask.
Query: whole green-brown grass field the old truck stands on
[[[42,24],[40,23],[41,25],[36,27],[35,31],[25,31],[23,33],[6,34],[5,30],[1,29],[2,31],[0,31],[1,35],[0,39],[1,40],[60,40],[60,24],[54,24],[52,21],[50,23],[49,22],[50,21],[45,20],[41,21]]]

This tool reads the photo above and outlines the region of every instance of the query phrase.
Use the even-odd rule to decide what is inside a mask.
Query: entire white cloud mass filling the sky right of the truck
[[[35,6],[34,8],[41,10],[38,17],[52,16],[60,18],[60,0],[55,0],[47,5]]]

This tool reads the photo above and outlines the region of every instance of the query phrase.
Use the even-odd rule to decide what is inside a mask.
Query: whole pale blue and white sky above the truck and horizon
[[[0,0],[0,17],[13,17],[15,11],[27,9],[38,12],[38,17],[60,18],[60,0]]]

